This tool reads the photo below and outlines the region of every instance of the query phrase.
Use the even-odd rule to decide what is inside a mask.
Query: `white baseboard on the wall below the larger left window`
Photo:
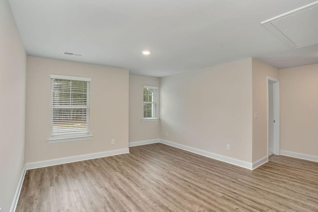
[[[91,154],[82,154],[82,155],[63,157],[63,158],[52,159],[52,160],[42,160],[42,161],[37,161],[37,162],[32,162],[32,163],[26,163],[25,165],[26,165],[26,170],[29,170],[29,169],[36,169],[36,168],[42,168],[42,167],[47,167],[47,166],[72,163],[72,162],[77,162],[77,161],[81,161],[81,160],[90,160],[90,159],[94,159],[94,158],[108,157],[108,156],[125,154],[125,153],[129,153],[129,148],[96,152],[96,153],[91,153]]]

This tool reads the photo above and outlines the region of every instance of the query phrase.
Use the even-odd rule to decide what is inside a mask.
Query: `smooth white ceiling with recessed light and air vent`
[[[151,76],[247,57],[276,68],[318,63],[318,45],[292,49],[260,24],[315,0],[9,1],[29,56]]]

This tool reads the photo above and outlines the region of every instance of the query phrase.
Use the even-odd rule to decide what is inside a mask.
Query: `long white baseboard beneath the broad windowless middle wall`
[[[169,146],[173,146],[173,147],[176,147],[176,148],[180,148],[180,149],[192,152],[192,153],[200,154],[202,156],[210,157],[212,159],[220,160],[222,162],[230,163],[230,164],[233,164],[233,165],[236,165],[236,166],[239,166],[239,167],[243,167],[243,168],[246,168],[246,169],[249,169],[249,170],[253,169],[253,164],[250,163],[250,162],[247,162],[247,161],[238,160],[238,159],[235,159],[235,158],[232,158],[232,157],[227,157],[227,156],[224,156],[224,155],[221,155],[221,154],[212,153],[212,152],[209,152],[209,151],[193,148],[193,147],[182,145],[182,144],[175,143],[175,142],[172,142],[172,141],[166,141],[166,140],[163,140],[163,139],[160,139],[160,143],[163,143],[163,144],[166,144],[166,145],[169,145]]]

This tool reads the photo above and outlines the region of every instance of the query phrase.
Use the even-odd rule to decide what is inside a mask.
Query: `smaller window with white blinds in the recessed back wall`
[[[157,119],[158,87],[144,85],[144,119]]]

